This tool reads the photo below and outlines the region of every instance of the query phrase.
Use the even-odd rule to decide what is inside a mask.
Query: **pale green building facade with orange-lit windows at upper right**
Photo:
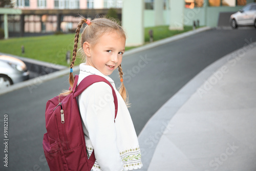
[[[183,1],[183,8],[180,2]],[[219,14],[222,12],[237,12],[243,6],[256,2],[255,0],[144,0],[144,27],[169,25],[170,19],[182,16],[184,26],[192,26],[199,20],[201,26],[216,27]],[[159,5],[160,3],[160,5]],[[161,12],[159,11],[161,7]],[[161,19],[162,18],[162,19]],[[155,22],[152,22],[155,21]],[[160,20],[160,23],[159,23]]]

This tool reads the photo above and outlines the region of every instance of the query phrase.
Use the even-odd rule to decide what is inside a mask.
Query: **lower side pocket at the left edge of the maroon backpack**
[[[48,133],[44,134],[42,147],[44,148],[44,153],[50,170],[64,170],[58,143],[54,139],[51,139],[48,136]]]

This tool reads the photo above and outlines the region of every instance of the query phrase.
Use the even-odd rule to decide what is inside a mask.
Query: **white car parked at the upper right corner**
[[[244,6],[230,16],[230,25],[236,29],[238,26],[254,26],[256,28],[256,3]]]

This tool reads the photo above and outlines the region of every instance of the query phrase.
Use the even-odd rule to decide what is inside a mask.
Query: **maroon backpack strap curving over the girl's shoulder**
[[[105,78],[103,78],[99,75],[89,75],[86,78],[83,78],[83,80],[79,83],[78,86],[77,86],[78,75],[75,75],[75,81],[74,81],[74,86],[73,86],[74,90],[72,89],[72,91],[74,92],[73,98],[76,98],[78,95],[80,95],[84,90],[86,90],[93,83],[101,82],[101,81],[109,84],[109,86],[112,89],[112,94],[113,94],[113,97],[114,97],[114,104],[115,104],[115,119],[116,119],[117,106],[118,106],[116,92],[115,92],[113,86],[111,85],[111,83],[108,80],[106,80]],[[114,122],[115,122],[115,120],[114,120]],[[89,160],[92,161],[93,163],[95,162],[96,158],[95,158],[94,150],[93,150]]]

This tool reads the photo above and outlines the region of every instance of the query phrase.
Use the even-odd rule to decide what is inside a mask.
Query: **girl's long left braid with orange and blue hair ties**
[[[81,29],[83,23],[86,23],[86,22],[87,22],[87,19],[84,18],[84,19],[81,19],[80,22],[79,22],[78,25],[77,25],[76,35],[75,35],[75,40],[74,40],[75,44],[74,44],[74,49],[73,49],[73,57],[72,57],[72,61],[71,61],[71,63],[70,63],[70,68],[73,68],[73,67],[74,67],[75,60],[76,60],[77,44],[78,44],[78,40],[79,40],[80,29]],[[72,88],[73,85],[74,85],[74,81],[75,81],[74,75],[73,75],[73,73],[71,72],[71,73],[69,74],[69,83],[70,83],[71,88]]]

